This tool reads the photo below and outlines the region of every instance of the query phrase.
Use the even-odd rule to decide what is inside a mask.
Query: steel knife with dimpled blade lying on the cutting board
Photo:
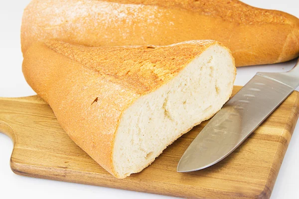
[[[216,164],[240,144],[299,86],[299,60],[283,73],[257,73],[228,100],[193,140],[177,172]]]

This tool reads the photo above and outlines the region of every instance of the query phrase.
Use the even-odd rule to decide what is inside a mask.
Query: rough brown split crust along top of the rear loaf
[[[256,8],[239,0],[104,0],[124,4],[180,8],[227,21],[252,23],[292,23],[283,12]]]

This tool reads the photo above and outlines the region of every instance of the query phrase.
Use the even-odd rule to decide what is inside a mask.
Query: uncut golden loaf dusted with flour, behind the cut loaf
[[[297,57],[299,19],[238,0],[32,0],[22,19],[22,51],[49,39],[85,46],[212,39],[232,51],[236,66],[247,66]]]

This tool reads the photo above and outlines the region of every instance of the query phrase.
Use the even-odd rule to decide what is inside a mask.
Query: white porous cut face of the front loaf
[[[115,176],[142,171],[174,140],[212,117],[229,99],[235,74],[230,52],[212,45],[170,82],[136,100],[115,135]]]

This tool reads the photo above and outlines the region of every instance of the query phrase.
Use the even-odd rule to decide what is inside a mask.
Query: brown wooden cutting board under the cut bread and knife
[[[235,87],[236,93],[241,87]],[[214,166],[177,173],[177,163],[207,122],[180,137],[144,171],[120,180],[106,172],[62,130],[37,96],[0,98],[0,131],[14,143],[11,170],[35,178],[97,185],[184,198],[270,198],[294,131],[294,92],[230,156]]]

